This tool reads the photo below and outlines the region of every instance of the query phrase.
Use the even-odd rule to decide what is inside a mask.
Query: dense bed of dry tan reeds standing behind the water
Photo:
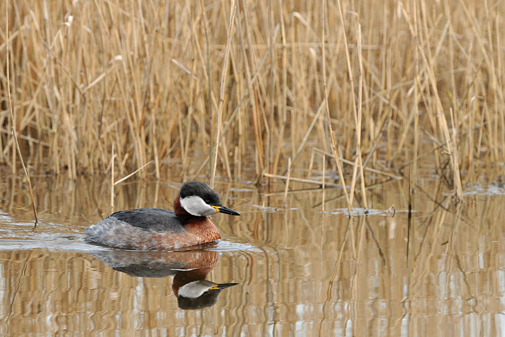
[[[19,169],[14,123],[34,170],[74,179],[111,173],[111,163],[124,176],[153,161],[138,174],[160,178],[177,165],[182,179],[211,172],[213,179],[216,165],[223,179],[263,183],[288,166],[291,179],[311,178],[306,168],[323,166],[314,154],[329,153],[338,160],[327,169],[341,160],[339,180],[346,175],[363,191],[366,166],[398,175],[410,167],[415,182],[429,163],[461,197],[466,176],[503,173],[505,7],[498,3],[6,6],[4,171]]]

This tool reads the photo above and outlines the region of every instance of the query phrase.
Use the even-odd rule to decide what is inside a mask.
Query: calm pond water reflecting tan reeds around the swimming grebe
[[[322,213],[321,189],[298,190],[310,185],[290,184],[284,202],[283,182],[270,193],[218,182],[242,214],[212,217],[220,242],[129,252],[83,241],[111,213],[109,178],[35,177],[34,228],[22,180],[2,176],[2,336],[505,334],[500,183],[466,186],[455,203],[442,179],[420,179],[409,219],[407,179],[367,182],[368,215],[349,219],[337,188]],[[171,208],[179,186],[121,184],[115,210]]]

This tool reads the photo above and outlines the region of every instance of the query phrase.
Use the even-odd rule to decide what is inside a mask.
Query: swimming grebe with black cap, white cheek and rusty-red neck
[[[185,182],[174,210],[138,208],[113,213],[84,231],[86,242],[131,250],[170,250],[221,238],[208,218],[215,213],[240,215],[223,206],[218,193],[201,181]]]

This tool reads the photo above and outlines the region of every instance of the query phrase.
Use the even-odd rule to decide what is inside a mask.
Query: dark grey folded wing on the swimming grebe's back
[[[170,230],[176,233],[184,230],[181,220],[175,215],[174,211],[163,208],[137,208],[119,211],[109,217],[145,229]]]

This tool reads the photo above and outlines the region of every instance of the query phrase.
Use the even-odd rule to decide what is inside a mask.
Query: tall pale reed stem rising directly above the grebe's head
[[[224,89],[226,84],[226,74],[228,70],[228,59],[230,56],[230,48],[231,48],[231,34],[233,32],[233,22],[235,21],[235,0],[231,0],[231,10],[230,10],[230,29],[228,31],[228,39],[226,40],[226,51],[224,55],[223,62],[223,71],[221,73],[221,90],[219,93],[219,108],[218,108],[218,120],[216,122],[216,140],[214,142],[214,151],[212,158],[212,172],[211,172],[211,182],[209,186],[214,188],[214,178],[216,176],[216,165],[218,159],[218,150],[219,150],[219,134],[221,133],[221,119],[223,116],[224,109]],[[209,98],[210,99],[210,98]],[[226,154],[225,154],[226,155]]]

